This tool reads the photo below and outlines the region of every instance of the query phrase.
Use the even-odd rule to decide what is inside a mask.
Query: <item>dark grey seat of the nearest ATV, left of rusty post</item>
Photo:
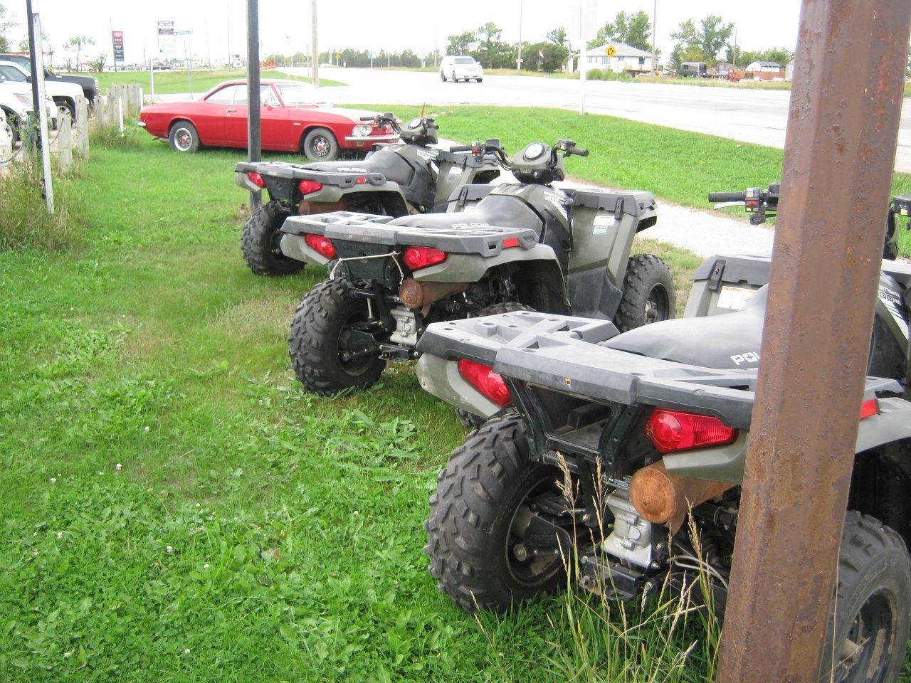
[[[619,334],[601,346],[703,368],[754,368],[759,365],[768,294],[766,285],[740,311],[655,322]]]

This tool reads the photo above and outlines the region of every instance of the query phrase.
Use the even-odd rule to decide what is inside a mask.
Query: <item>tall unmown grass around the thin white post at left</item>
[[[74,173],[54,173],[55,211],[49,215],[39,162],[26,157],[0,168],[0,251],[56,250],[76,240],[81,209],[69,187]]]

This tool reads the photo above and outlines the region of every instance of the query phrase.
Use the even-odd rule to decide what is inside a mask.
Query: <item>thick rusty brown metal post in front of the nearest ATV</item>
[[[817,683],[832,667],[909,25],[907,0],[803,2],[718,683]]]

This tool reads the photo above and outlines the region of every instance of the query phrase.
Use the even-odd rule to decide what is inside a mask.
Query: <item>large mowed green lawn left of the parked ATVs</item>
[[[75,248],[0,253],[0,679],[568,678],[560,598],[478,622],[425,570],[452,411],[408,365],[302,392],[285,337],[325,271],[247,269],[241,153],[137,140],[72,181]]]

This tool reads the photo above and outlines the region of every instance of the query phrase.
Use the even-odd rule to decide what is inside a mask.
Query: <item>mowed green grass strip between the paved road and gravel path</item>
[[[356,105],[389,109],[407,119],[421,107]],[[647,189],[695,209],[711,209],[714,191],[767,187],[782,175],[783,150],[716,138],[669,127],[654,126],[599,114],[544,107],[437,107],[441,138],[459,142],[499,138],[513,154],[531,142],[554,143],[570,138],[589,149],[589,157],[566,159],[570,178],[613,188]],[[892,194],[911,192],[911,174],[896,173]],[[743,209],[726,209],[746,220]],[[885,226],[883,227],[885,230]],[[899,250],[911,257],[911,232],[904,221],[897,230]]]

